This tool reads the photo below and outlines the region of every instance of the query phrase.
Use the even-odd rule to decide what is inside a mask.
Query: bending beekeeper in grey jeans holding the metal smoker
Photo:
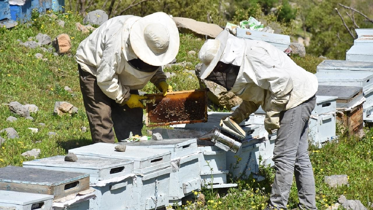
[[[241,123],[261,105],[264,127],[277,130],[273,161],[276,175],[267,209],[284,209],[293,174],[300,209],[316,209],[315,182],[308,156],[308,119],[315,106],[317,78],[275,46],[240,39],[228,30],[207,40],[199,54],[200,78],[213,81],[243,99],[229,117]]]

